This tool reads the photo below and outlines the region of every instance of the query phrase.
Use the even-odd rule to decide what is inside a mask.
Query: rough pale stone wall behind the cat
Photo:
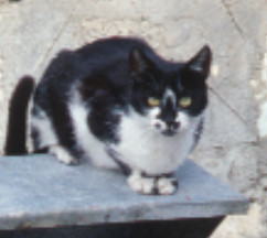
[[[0,147],[19,78],[38,79],[60,48],[108,35],[145,37],[178,61],[211,45],[211,100],[193,159],[255,202],[247,216],[227,218],[213,237],[267,237],[265,0],[0,0]]]

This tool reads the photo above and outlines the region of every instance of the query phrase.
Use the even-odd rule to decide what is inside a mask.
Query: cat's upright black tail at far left
[[[26,118],[28,105],[34,88],[30,76],[21,78],[9,105],[9,119],[4,153],[7,155],[26,154]]]

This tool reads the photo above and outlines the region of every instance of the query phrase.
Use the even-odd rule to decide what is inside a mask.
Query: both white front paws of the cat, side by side
[[[134,172],[127,182],[131,190],[145,195],[171,195],[178,190],[178,181],[173,176],[146,176]]]

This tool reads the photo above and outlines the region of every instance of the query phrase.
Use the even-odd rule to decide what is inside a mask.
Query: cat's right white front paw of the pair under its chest
[[[178,181],[174,177],[159,177],[156,186],[158,194],[170,195],[175,193],[178,188]]]

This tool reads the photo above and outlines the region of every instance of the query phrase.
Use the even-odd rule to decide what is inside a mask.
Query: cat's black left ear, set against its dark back
[[[152,67],[151,61],[138,47],[132,47],[129,54],[130,74],[138,76]]]

